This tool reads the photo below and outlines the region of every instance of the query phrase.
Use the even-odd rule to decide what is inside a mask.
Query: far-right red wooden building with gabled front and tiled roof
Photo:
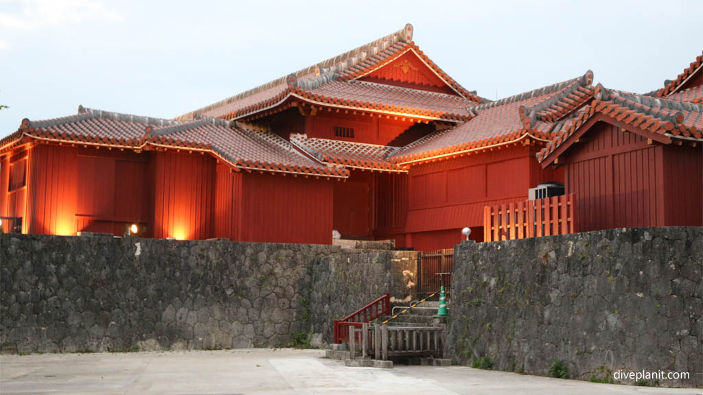
[[[563,169],[579,228],[703,225],[703,56],[664,88],[595,88],[538,160]]]

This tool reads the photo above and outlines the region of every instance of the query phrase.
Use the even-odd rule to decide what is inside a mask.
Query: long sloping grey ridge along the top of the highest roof
[[[356,65],[358,61],[366,59],[367,56],[374,56],[376,53],[379,53],[385,50],[386,48],[389,48],[389,46],[392,46],[396,42],[411,41],[413,39],[413,30],[413,25],[411,25],[410,23],[406,23],[406,25],[401,30],[388,34],[387,36],[381,37],[380,39],[376,39],[374,41],[371,41],[370,43],[363,44],[362,46],[358,46],[352,49],[351,51],[347,51],[340,55],[334,56],[333,58],[329,58],[319,63],[315,63],[314,65],[305,67],[301,70],[298,70],[297,72],[293,72],[283,77],[274,79],[273,81],[266,82],[266,84],[256,86],[252,89],[243,91],[234,96],[230,96],[216,103],[212,103],[210,105],[206,105],[205,107],[198,108],[198,110],[187,112],[186,114],[180,115],[175,119],[191,119],[194,117],[195,114],[198,114],[199,112],[209,111],[214,108],[221,107],[222,105],[233,103],[247,96],[252,96],[254,93],[259,93],[261,91],[265,91],[266,89],[271,89],[274,86],[285,84],[286,82],[288,82],[288,78],[292,75],[295,75],[296,78],[313,73],[318,75],[321,70],[336,68],[333,66],[341,65],[342,63],[344,64],[344,67],[340,68],[340,70],[337,71],[344,70],[344,68],[350,65],[349,63],[352,63],[351,65]],[[361,60],[359,60],[359,58],[361,58]]]

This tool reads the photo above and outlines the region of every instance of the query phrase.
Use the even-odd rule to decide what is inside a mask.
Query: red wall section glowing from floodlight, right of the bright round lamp
[[[214,233],[215,160],[206,155],[155,152],[154,237],[206,239]]]

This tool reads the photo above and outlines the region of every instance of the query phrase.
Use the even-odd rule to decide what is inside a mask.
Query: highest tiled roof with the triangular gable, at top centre
[[[224,119],[242,119],[255,117],[274,109],[280,110],[290,106],[290,101],[301,100],[311,104],[332,106],[368,112],[382,112],[389,115],[406,115],[420,119],[443,119],[453,122],[469,119],[466,108],[486,99],[479,98],[475,92],[468,92],[432,60],[427,58],[413,41],[413,26],[408,24],[403,29],[370,42],[335,58],[298,70],[286,77],[280,77],[257,88],[245,91],[224,101],[219,101],[199,110],[181,115],[176,119],[193,119],[195,115],[219,117]],[[437,78],[448,91],[423,89],[423,84],[412,86],[381,85],[373,88],[362,84],[358,77],[374,72],[389,65],[402,56],[415,56],[427,73]],[[413,66],[418,68],[420,66]],[[419,69],[418,69],[419,70]],[[430,76],[430,77],[432,77]],[[437,84],[437,81],[434,83]],[[378,81],[375,81],[378,82]],[[378,84],[377,84],[378,85]],[[426,84],[427,87],[431,84]],[[393,88],[390,89],[389,88]],[[377,91],[387,91],[378,96]],[[406,97],[420,97],[420,100],[408,101]],[[444,95],[456,98],[449,108],[437,108],[438,101],[450,101]]]

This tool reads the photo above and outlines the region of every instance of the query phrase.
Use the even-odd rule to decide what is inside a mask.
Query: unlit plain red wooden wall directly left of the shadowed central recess
[[[240,240],[331,244],[336,182],[243,174]]]

